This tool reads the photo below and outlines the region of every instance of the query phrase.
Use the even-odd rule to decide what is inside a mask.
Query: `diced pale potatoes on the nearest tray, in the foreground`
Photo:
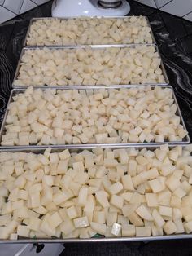
[[[0,152],[0,238],[190,233],[191,151]]]

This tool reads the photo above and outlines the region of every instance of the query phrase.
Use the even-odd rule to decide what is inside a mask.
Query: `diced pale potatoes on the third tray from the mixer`
[[[2,146],[182,141],[171,88],[33,89],[8,106]]]

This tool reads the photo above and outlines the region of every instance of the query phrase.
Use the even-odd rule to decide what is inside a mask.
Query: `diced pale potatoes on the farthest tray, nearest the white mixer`
[[[143,16],[34,20],[28,46],[152,43],[151,27]]]

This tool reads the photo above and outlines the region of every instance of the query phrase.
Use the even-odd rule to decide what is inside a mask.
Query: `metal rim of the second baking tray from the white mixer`
[[[141,45],[139,45],[139,46],[141,46]],[[150,44],[143,45],[143,46],[146,46],[146,47],[147,46],[154,46],[155,51],[158,52],[159,58],[161,59],[161,55],[159,53],[159,49],[158,49],[157,46],[150,45]],[[101,45],[100,46],[97,46],[97,45],[95,45],[95,46],[94,45],[92,45],[92,46],[61,46],[61,47],[57,46],[57,47],[48,47],[48,48],[53,49],[53,50],[55,50],[55,49],[58,49],[58,50],[63,49],[64,50],[64,49],[78,49],[78,48],[86,48],[86,47],[90,47],[92,49],[103,49],[103,48],[112,48],[112,47],[114,47],[114,48],[136,48],[137,46],[134,45],[134,44],[130,44],[130,45],[103,45],[103,46],[101,46]],[[30,50],[35,51],[36,49],[43,49],[43,48],[47,48],[47,47],[45,47],[45,46],[39,47],[39,48],[37,48],[37,47],[24,47],[22,49],[21,54],[20,54],[20,59],[19,59],[16,71],[15,71],[15,77],[14,77],[13,82],[12,82],[12,88],[26,88],[26,87],[28,87],[28,86],[15,86],[14,85],[14,82],[15,82],[16,78],[19,76],[19,73],[20,73],[20,65],[21,65],[22,57],[23,57],[23,55],[26,51],[30,51]],[[162,70],[162,74],[164,76],[165,82],[163,82],[163,83],[145,83],[143,85],[168,85],[168,83],[169,83],[168,75],[167,75],[166,70],[164,68],[164,63],[163,63],[162,59],[161,59],[160,68]],[[132,85],[132,84],[130,84],[130,85]],[[35,86],[35,84],[33,86]],[[47,86],[47,85],[45,85],[45,86]],[[74,85],[74,86],[79,86],[79,85]],[[83,86],[83,85],[81,85],[81,86]],[[118,85],[118,86],[123,87],[123,86],[126,86],[126,85]],[[37,87],[42,87],[42,86],[37,86]],[[110,86],[108,86],[108,87],[110,87]]]

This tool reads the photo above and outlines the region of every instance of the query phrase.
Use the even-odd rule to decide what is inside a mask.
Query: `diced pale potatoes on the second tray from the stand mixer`
[[[21,58],[15,86],[164,83],[155,46],[30,49]]]

